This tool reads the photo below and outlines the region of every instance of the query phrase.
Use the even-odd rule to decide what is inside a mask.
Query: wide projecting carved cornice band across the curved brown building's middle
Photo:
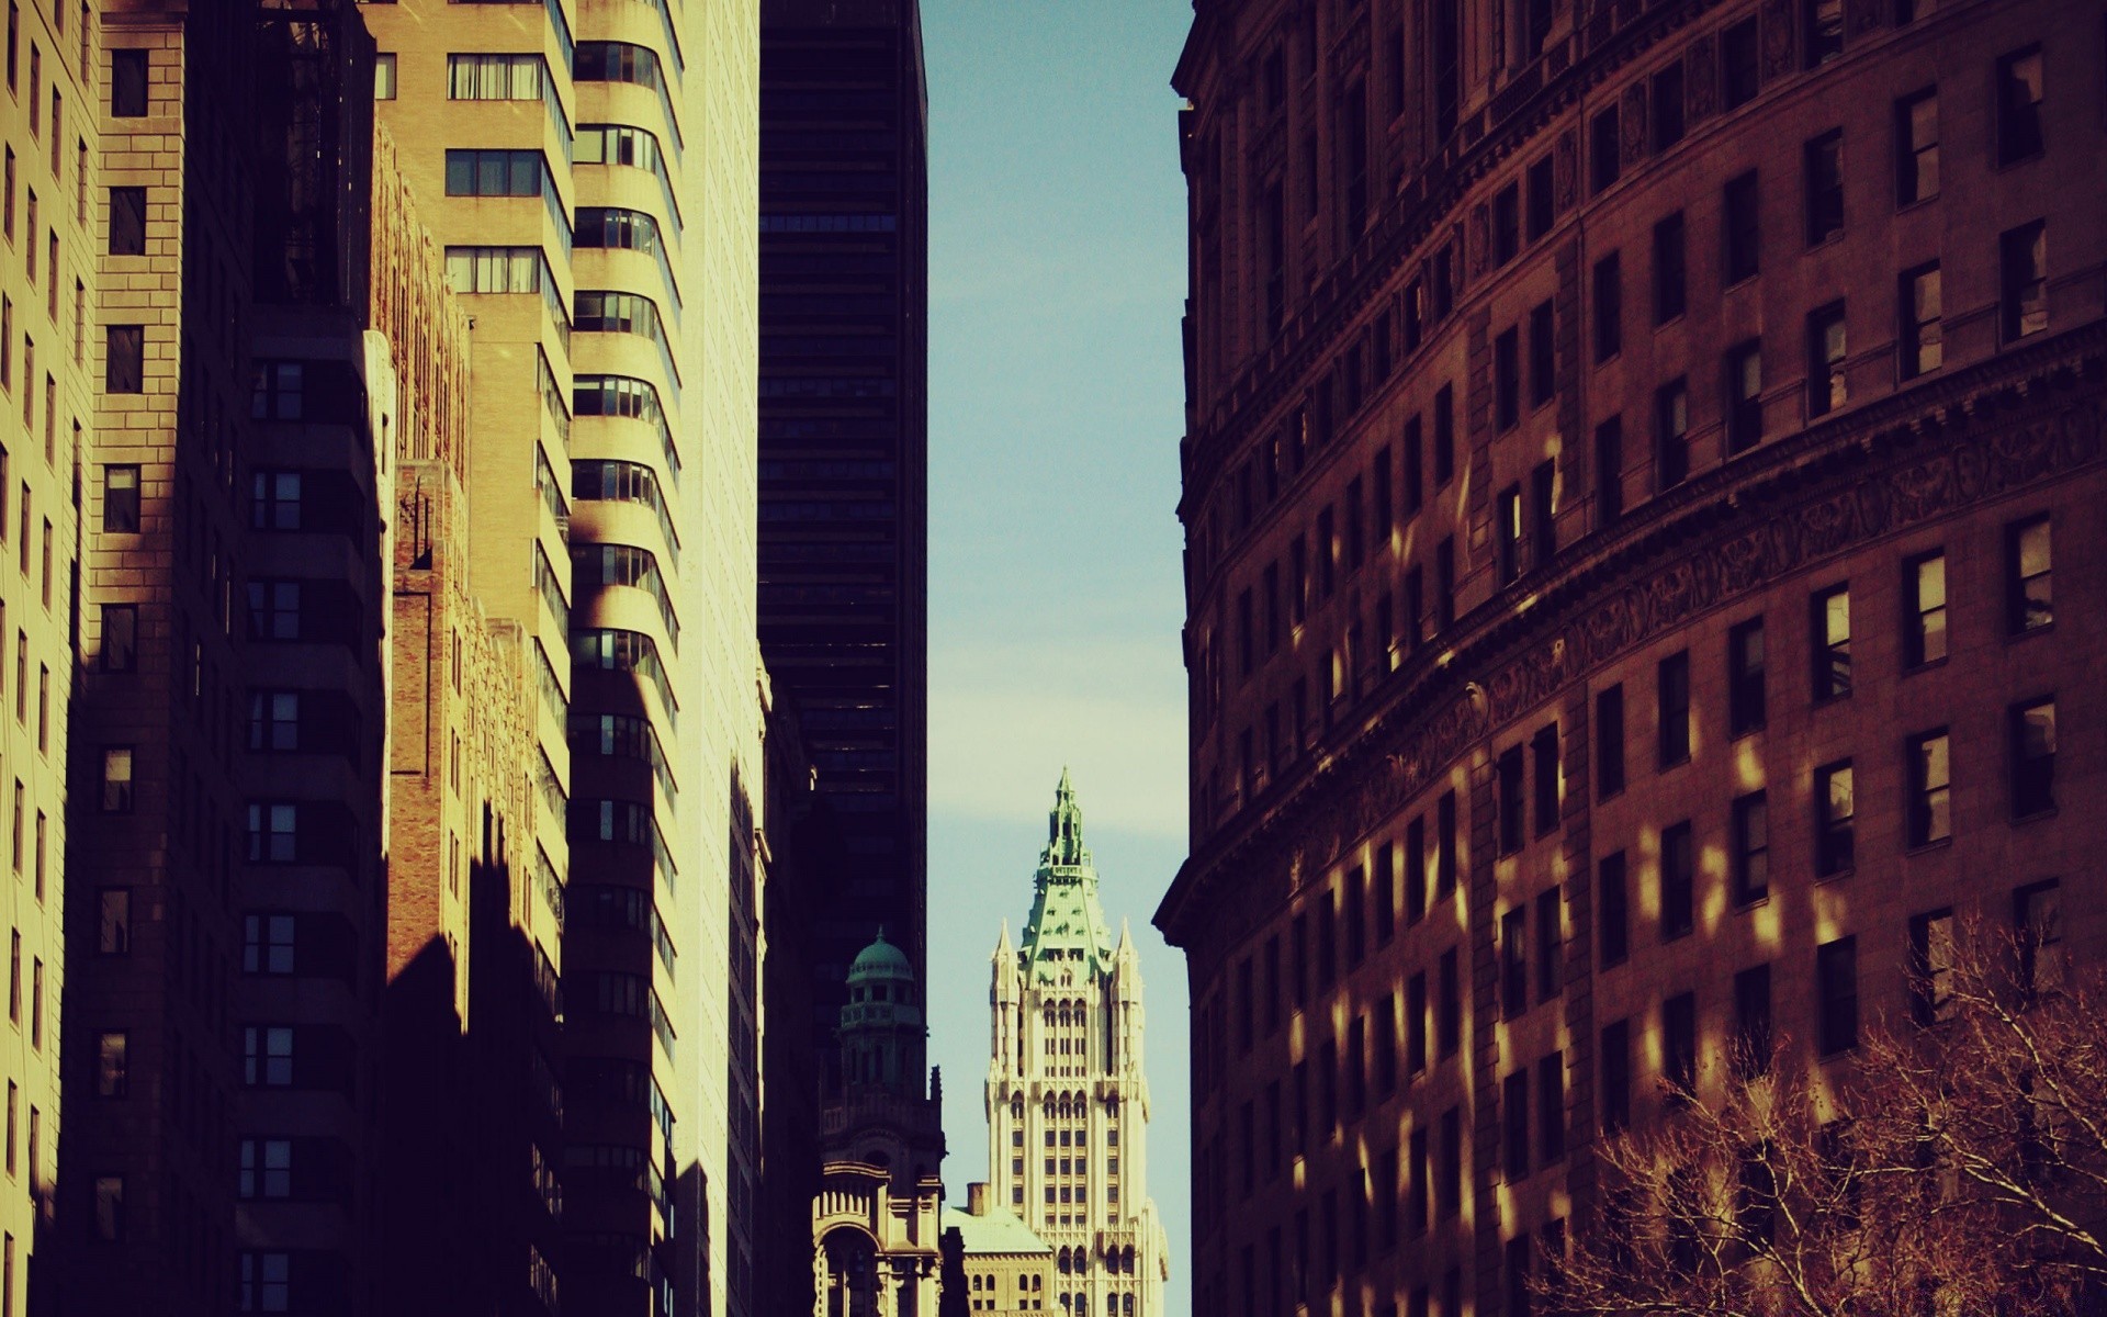
[[[1414,651],[1363,716],[1195,849],[1155,925],[1190,946],[1201,921],[1218,929],[1247,904],[1222,900],[1224,881],[1285,872],[1300,887],[1473,742],[1587,674],[1770,579],[2099,466],[2103,430],[2107,322],[2092,322],[1772,440],[1641,504]]]

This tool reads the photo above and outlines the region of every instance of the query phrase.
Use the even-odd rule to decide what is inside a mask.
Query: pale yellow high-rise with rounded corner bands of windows
[[[474,327],[470,584],[539,674],[512,849],[563,893],[560,1302],[750,1313],[756,11],[365,13]]]

